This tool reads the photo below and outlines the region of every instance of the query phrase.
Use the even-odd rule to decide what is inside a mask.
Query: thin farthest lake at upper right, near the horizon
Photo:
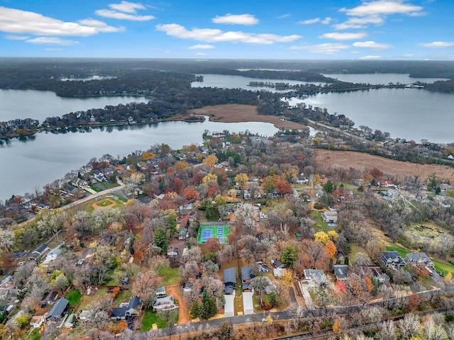
[[[338,79],[341,81],[348,81],[349,83],[364,83],[379,85],[393,84],[413,84],[416,81],[422,83],[431,84],[438,80],[448,80],[445,78],[410,78],[409,74],[397,74],[397,73],[370,73],[370,74],[323,74],[325,77]]]

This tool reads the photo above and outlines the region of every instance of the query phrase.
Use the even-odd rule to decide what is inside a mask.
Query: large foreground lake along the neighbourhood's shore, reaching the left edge
[[[95,128],[92,132],[66,134],[38,133],[33,141],[11,140],[0,146],[0,200],[31,193],[38,186],[61,179],[72,170],[103,154],[123,157],[166,143],[172,149],[202,142],[204,130],[244,132],[271,136],[277,132],[270,123],[185,123],[164,122],[121,128]]]

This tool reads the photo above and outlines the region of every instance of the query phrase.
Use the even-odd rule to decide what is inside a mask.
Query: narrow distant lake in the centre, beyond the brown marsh
[[[284,79],[258,79],[250,77],[241,77],[241,76],[230,76],[224,74],[197,74],[198,76],[204,76],[204,81],[194,81],[192,87],[218,87],[220,89],[246,89],[250,91],[271,91],[277,93],[285,93],[287,91],[277,91],[276,89],[270,87],[255,87],[248,86],[250,81],[267,81],[271,83],[289,83],[290,85],[297,84],[325,84],[325,83],[311,83],[304,81],[296,80],[284,80]]]

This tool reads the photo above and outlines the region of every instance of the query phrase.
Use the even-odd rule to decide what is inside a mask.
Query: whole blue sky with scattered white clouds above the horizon
[[[0,57],[454,60],[453,0],[0,0]]]

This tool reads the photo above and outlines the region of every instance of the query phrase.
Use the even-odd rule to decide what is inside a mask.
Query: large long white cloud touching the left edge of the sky
[[[0,6],[0,31],[13,34],[52,35],[65,37],[87,37],[99,32],[120,32],[124,28],[103,28],[60,21],[39,13],[21,11]]]

